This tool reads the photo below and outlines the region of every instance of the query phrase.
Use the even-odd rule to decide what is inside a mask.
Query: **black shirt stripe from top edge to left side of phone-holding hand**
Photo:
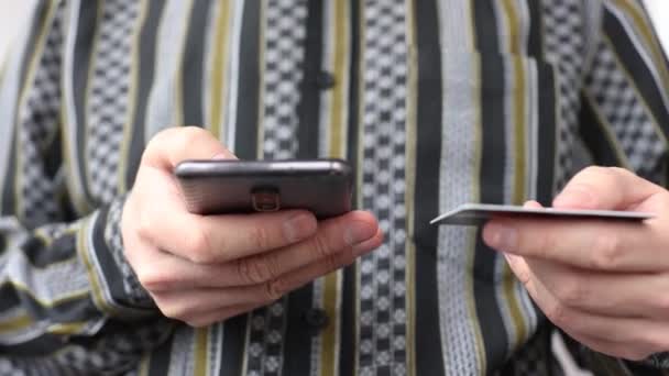
[[[144,145],[147,140],[144,140],[144,122],[146,120],[146,106],[149,103],[149,95],[153,85],[153,75],[155,66],[155,49],[158,25],[161,15],[163,14],[164,1],[146,1],[146,19],[140,32],[140,42],[138,51],[138,89],[134,108],[134,119],[132,120],[132,139],[130,140],[130,150],[128,151],[128,167],[125,170],[125,186],[132,188],[134,184]]]

